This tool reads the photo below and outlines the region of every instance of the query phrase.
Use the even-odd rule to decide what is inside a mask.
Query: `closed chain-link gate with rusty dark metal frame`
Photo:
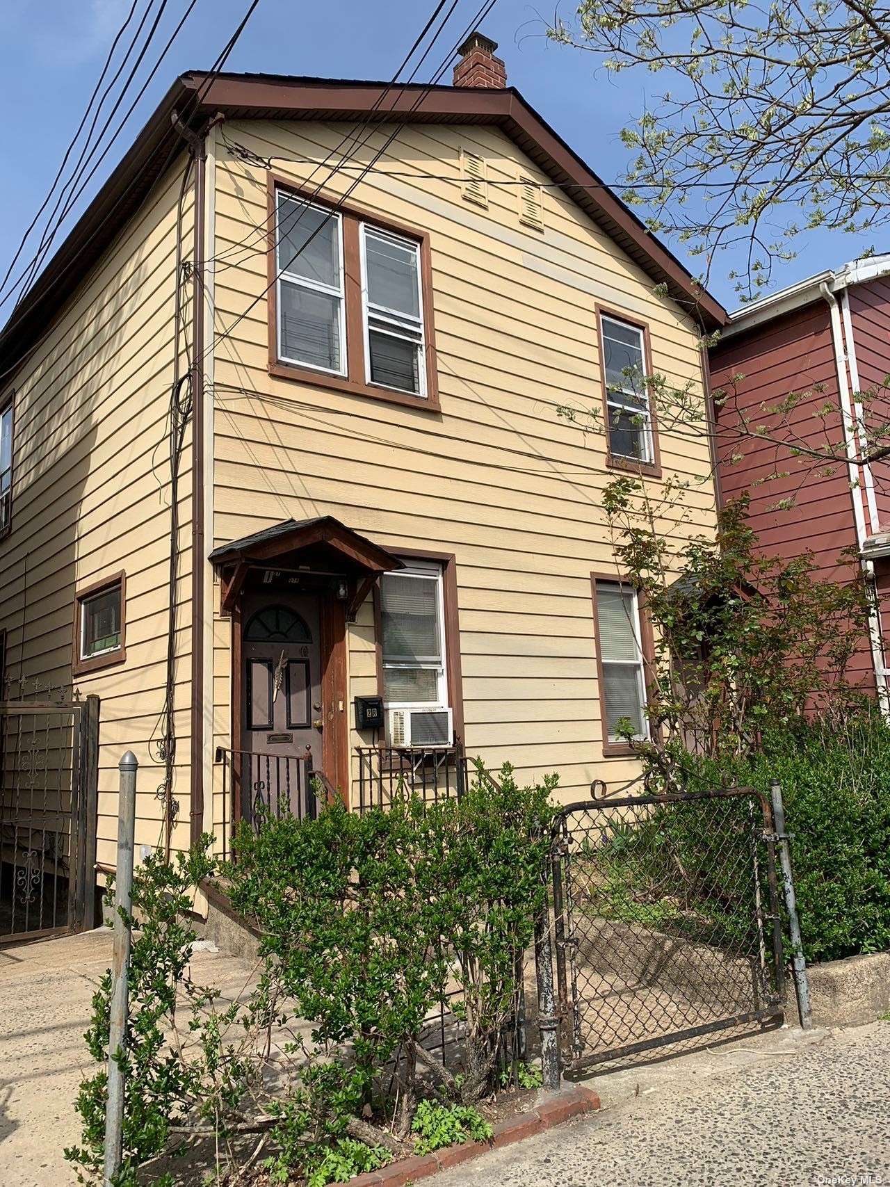
[[[769,802],[750,788],[593,800],[559,813],[564,1065],[781,1020],[773,833]]]

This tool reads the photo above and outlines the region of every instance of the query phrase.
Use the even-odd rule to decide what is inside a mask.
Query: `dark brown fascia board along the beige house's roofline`
[[[726,311],[700,288],[680,261],[576,155],[515,88],[427,87],[422,83],[294,78],[286,75],[220,75],[201,97],[208,76],[182,75],[164,96],[33,288],[0,334],[0,372],[15,364],[39,338],[49,318],[85,275],[160,171],[172,160],[179,134],[172,115],[198,129],[217,113],[229,119],[371,120],[405,123],[489,123],[500,127],[656,284],[663,284],[706,330],[726,323]],[[69,283],[66,283],[69,281]]]

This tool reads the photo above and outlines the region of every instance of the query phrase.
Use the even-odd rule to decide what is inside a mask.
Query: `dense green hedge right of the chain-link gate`
[[[890,726],[877,713],[843,726],[801,721],[767,730],[745,760],[685,754],[679,768],[689,791],[769,796],[778,780],[808,960],[890,950]]]

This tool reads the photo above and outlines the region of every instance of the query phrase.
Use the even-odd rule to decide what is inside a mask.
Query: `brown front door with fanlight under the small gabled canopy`
[[[313,594],[256,592],[243,604],[242,814],[314,814],[322,768],[319,604]]]

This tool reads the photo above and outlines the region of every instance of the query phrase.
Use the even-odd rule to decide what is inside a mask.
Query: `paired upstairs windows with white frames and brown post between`
[[[273,373],[438,408],[426,237],[274,196]]]

